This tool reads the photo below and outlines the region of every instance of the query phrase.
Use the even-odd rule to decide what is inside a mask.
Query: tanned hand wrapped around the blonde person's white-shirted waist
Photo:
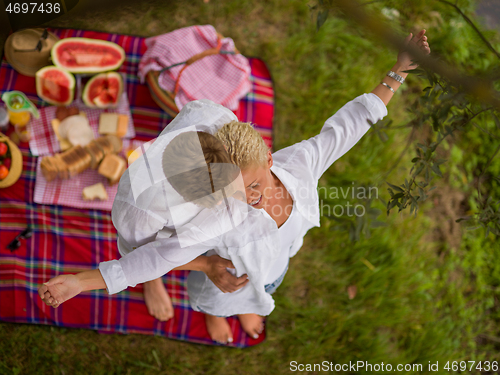
[[[246,274],[236,277],[226,269],[234,268],[230,260],[221,258],[218,255],[212,255],[207,258],[207,267],[204,272],[223,293],[235,292],[249,282]]]

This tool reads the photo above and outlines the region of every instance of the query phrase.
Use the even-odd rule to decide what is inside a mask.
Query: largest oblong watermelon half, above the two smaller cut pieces
[[[55,65],[71,73],[100,73],[118,69],[125,51],[116,43],[89,38],[65,38],[51,51]]]

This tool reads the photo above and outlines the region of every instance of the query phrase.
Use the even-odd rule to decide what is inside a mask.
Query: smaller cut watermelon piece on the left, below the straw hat
[[[36,93],[47,103],[69,105],[75,95],[75,77],[65,69],[46,66],[36,72]]]

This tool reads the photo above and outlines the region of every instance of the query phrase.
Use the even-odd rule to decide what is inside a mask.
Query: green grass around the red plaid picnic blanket
[[[396,57],[381,41],[334,14],[316,32],[306,3],[136,2],[82,10],[50,25],[143,36],[194,24],[214,25],[232,37],[243,54],[267,62],[275,83],[274,140],[280,149],[316,134],[344,103],[371,91]],[[415,24],[427,28],[433,51],[454,51],[453,57],[461,61],[470,57],[467,48],[481,49],[470,32],[450,29],[448,25],[458,21],[446,7],[435,9],[432,1],[386,1],[369,9],[380,12],[388,3],[400,10],[402,29]],[[440,22],[429,15],[436,10]],[[489,36],[498,40],[495,34]],[[462,44],[465,47],[458,49]],[[388,107],[394,125],[411,119],[405,108],[424,86],[416,77],[407,80]],[[327,171],[321,185],[378,186],[380,197],[387,200],[382,175],[405,149],[409,130],[388,135],[382,143],[369,132]],[[468,136],[475,150],[485,147],[484,135],[477,130]],[[424,140],[424,130],[416,137]],[[358,360],[423,364],[424,373],[429,361],[439,361],[438,373],[448,373],[443,370],[448,360],[498,360],[499,246],[493,235],[484,239],[481,231],[464,231],[463,237],[451,241],[445,224],[453,224],[458,208],[451,214],[438,210],[460,190],[467,197],[471,194],[460,181],[471,179],[482,159],[462,160],[466,141],[452,146],[458,148],[450,151],[454,164],[439,182],[437,193],[449,194],[434,195],[417,218],[382,214],[379,220],[388,225],[353,244],[346,232],[333,230],[333,219],[322,217],[321,227],[310,231],[291,259],[275,294],[277,307],[267,321],[268,339],[261,345],[240,350],[162,337],[0,324],[0,374],[281,374],[290,372],[291,361]],[[412,152],[403,156],[389,181],[407,176]],[[346,204],[347,199],[329,202]],[[385,212],[380,202],[373,205]],[[357,288],[353,299],[348,297],[349,286]]]

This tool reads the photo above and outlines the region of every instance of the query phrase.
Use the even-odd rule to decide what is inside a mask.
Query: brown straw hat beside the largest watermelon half
[[[47,39],[42,39],[40,52],[16,52],[16,50],[32,50],[40,41],[44,29],[24,29],[11,34],[5,42],[5,57],[10,65],[19,73],[34,77],[44,66],[51,65],[50,50],[59,40],[57,36],[48,33]]]

